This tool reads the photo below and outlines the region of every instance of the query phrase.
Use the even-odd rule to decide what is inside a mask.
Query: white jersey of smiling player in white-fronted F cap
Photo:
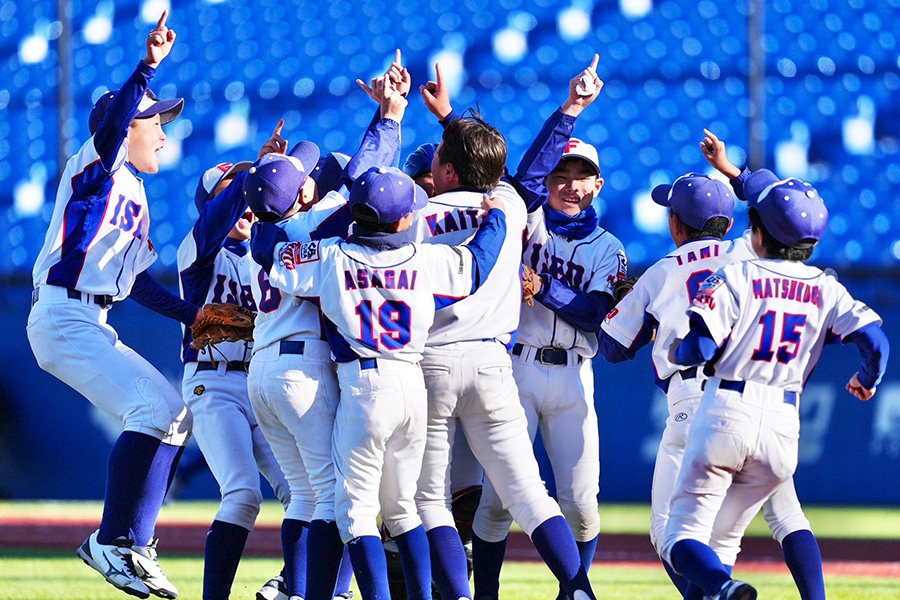
[[[613,284],[625,279],[627,261],[622,243],[598,227],[584,239],[566,239],[551,232],[544,211],[528,215],[522,262],[538,274],[548,274],[571,288],[613,295]],[[536,348],[575,350],[584,357],[597,354],[597,335],[587,333],[535,302],[522,307],[518,341]]]

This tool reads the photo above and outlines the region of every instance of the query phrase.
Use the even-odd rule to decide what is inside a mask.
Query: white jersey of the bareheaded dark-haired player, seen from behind
[[[504,202],[506,241],[497,264],[483,285],[469,298],[446,308],[438,305],[428,346],[453,342],[497,339],[509,344],[519,326],[521,289],[519,266],[521,238],[526,225],[525,204],[511,185],[501,182],[490,195]],[[413,235],[426,244],[463,244],[475,235],[484,219],[483,194],[453,190],[429,200],[428,206],[413,214]]]

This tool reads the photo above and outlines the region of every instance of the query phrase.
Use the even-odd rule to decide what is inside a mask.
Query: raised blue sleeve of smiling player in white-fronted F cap
[[[575,117],[557,109],[544,121],[544,126],[522,156],[512,181],[528,212],[536,211],[547,201],[544,179],[559,164],[574,130]]]

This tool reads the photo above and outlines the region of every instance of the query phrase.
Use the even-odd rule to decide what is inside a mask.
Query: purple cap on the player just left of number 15
[[[672,185],[658,185],[650,197],[660,206],[671,208],[682,223],[694,229],[703,229],[713,217],[731,221],[734,215],[731,189],[718,179],[698,173],[682,175]]]

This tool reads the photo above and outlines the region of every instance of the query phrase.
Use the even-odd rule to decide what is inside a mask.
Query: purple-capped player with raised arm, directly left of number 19
[[[396,160],[402,107],[392,98],[384,99],[384,82],[381,78],[373,83],[383,118],[370,125],[359,151],[344,169],[345,180],[352,181],[368,165]],[[303,241],[347,235],[346,189],[329,192],[320,200],[317,182],[307,177],[318,158],[315,144],[301,142],[287,156],[267,155],[251,168],[244,182],[245,198],[260,220],[278,223],[279,235]],[[253,244],[266,241],[257,238]],[[339,396],[331,351],[324,341],[317,304],[281,294],[256,263],[251,263],[250,270],[259,309],[250,399],[291,482],[293,498],[282,530],[287,588],[292,596],[326,600],[335,590],[344,551],[334,517],[332,429]],[[301,556],[303,544],[308,551]]]

